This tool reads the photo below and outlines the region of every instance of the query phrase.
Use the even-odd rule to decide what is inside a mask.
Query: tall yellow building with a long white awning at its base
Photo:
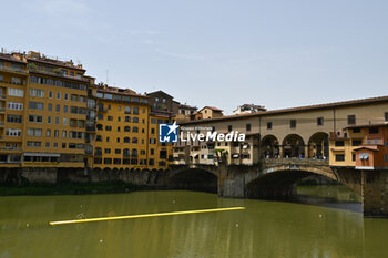
[[[84,167],[86,96],[82,65],[25,55],[23,167]]]

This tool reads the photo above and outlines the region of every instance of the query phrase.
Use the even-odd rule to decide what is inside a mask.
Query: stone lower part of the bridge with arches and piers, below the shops
[[[388,215],[388,172],[329,167],[328,161],[268,158],[252,166],[177,165],[169,174],[176,188],[201,189],[222,197],[286,199],[296,194],[296,182],[321,175],[363,196],[366,216]],[[387,194],[385,194],[387,192]]]

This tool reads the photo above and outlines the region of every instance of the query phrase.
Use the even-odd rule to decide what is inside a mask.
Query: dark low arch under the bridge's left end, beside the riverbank
[[[169,185],[174,189],[218,192],[218,176],[204,168],[183,168],[172,172]]]

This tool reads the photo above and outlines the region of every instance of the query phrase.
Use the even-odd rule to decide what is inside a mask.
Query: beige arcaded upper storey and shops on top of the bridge
[[[346,142],[335,146],[330,135],[340,137],[344,128],[354,125],[388,122],[387,114],[388,96],[381,96],[181,123],[181,127],[202,127],[204,132],[212,128],[222,134],[239,132],[247,137],[232,143],[180,142],[174,147],[174,163],[191,162],[192,156],[196,163],[212,163],[210,157],[214,157],[216,148],[225,149],[231,164],[256,164],[261,158],[329,159],[334,158],[333,152],[343,152],[347,146]],[[208,148],[212,144],[214,147]],[[345,158],[351,163],[351,156]]]

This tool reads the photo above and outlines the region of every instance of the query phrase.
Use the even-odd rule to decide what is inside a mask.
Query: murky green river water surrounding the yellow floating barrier
[[[50,220],[245,206],[246,210],[49,226]],[[387,257],[388,220],[314,205],[193,192],[0,197],[0,258]]]

